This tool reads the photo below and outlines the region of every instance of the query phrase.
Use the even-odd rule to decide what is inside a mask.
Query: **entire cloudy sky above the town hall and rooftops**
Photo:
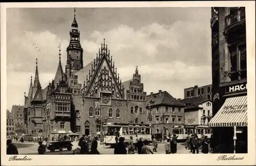
[[[24,105],[30,77],[42,88],[56,73],[58,45],[63,70],[74,8],[7,9],[7,108]],[[84,65],[105,38],[122,82],[138,66],[147,94],[211,84],[210,8],[76,8]]]

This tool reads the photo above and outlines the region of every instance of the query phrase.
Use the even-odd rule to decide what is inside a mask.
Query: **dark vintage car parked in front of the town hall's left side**
[[[49,142],[46,146],[51,152],[54,152],[56,149],[62,151],[63,149],[67,148],[68,151],[72,150],[73,141],[70,140],[62,140],[62,141],[52,141]]]

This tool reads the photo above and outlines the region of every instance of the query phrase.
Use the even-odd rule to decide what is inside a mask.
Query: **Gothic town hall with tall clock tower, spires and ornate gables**
[[[146,93],[136,67],[133,78],[122,82],[108,45],[103,44],[94,61],[83,66],[83,49],[76,15],[71,25],[67,64],[59,64],[54,80],[41,88],[36,60],[28,96],[25,94],[25,124],[29,134],[53,140],[59,134],[99,134],[106,122],[146,123]],[[137,108],[139,112],[131,112]]]

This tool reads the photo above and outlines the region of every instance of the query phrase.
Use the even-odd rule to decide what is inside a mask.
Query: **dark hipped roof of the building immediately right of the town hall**
[[[160,94],[155,93],[152,96],[147,95],[148,101],[153,101],[151,105],[180,105],[184,106],[183,103],[179,102],[177,99],[175,99],[172,95],[170,95],[168,92],[163,91]]]

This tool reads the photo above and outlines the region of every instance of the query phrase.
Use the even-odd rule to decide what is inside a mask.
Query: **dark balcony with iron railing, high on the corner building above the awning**
[[[239,33],[238,33],[239,32]],[[225,17],[225,29],[223,35],[236,38],[245,35],[245,9],[238,8],[236,13],[229,14]]]

